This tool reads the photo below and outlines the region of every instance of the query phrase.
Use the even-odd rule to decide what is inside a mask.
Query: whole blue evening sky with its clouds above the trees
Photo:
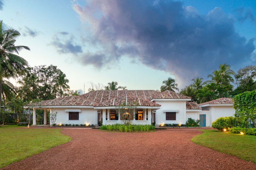
[[[82,93],[111,81],[157,90],[168,77],[181,89],[256,60],[253,0],[0,0],[0,20],[30,66],[56,65]]]

